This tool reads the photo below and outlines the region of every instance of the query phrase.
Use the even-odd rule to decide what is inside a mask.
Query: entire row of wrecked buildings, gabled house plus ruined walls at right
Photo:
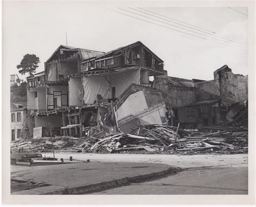
[[[90,127],[130,132],[145,124],[238,126],[248,116],[247,76],[225,65],[210,81],[170,77],[140,41],[106,53],[61,45],[43,72],[26,79],[33,137],[83,137]]]

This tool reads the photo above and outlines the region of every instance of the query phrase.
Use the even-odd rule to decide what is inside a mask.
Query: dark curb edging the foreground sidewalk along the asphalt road
[[[130,184],[131,182],[138,182],[143,181],[146,179],[152,179],[156,177],[160,177],[166,174],[169,174],[171,172],[176,172],[176,168],[173,168],[171,166],[167,166],[164,170],[153,172],[153,173],[147,173],[143,175],[134,175],[129,177],[124,177],[120,179],[115,180],[109,180],[109,181],[103,181],[103,182],[97,182],[92,184],[86,184],[86,185],[80,185],[76,187],[70,187],[70,188],[61,188],[58,190],[48,191],[48,192],[41,192],[38,193],[38,195],[77,195],[77,194],[89,194],[90,192],[99,191],[106,188],[111,187],[120,187],[122,185]],[[35,189],[36,191],[36,189]]]

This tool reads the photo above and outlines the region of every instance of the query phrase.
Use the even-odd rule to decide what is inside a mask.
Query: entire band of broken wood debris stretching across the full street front
[[[83,138],[57,136],[11,143],[14,152],[21,147],[29,152],[247,153],[248,131],[198,131],[174,126],[144,125],[130,133],[102,134],[91,130]]]

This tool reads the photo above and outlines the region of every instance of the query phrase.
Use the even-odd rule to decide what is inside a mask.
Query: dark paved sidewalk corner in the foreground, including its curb
[[[12,195],[85,194],[159,177],[175,172],[161,163],[81,162],[68,165],[11,166],[11,179],[50,184],[49,186],[12,192]]]

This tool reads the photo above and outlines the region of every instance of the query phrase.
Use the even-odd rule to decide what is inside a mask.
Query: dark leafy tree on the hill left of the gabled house
[[[36,72],[36,69],[38,68],[38,63],[40,62],[39,58],[35,54],[26,54],[23,56],[23,59],[19,65],[17,65],[17,68],[19,70],[19,73],[24,75],[25,73],[29,73],[29,75],[32,75]]]

